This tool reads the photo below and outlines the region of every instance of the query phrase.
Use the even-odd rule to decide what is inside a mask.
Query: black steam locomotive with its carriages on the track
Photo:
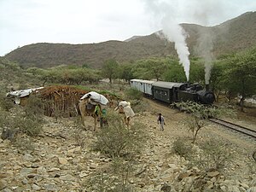
[[[187,102],[194,101],[212,105],[215,96],[210,90],[204,90],[200,84],[173,83],[166,81],[153,81],[131,79],[131,88],[141,91],[144,95],[160,102]]]

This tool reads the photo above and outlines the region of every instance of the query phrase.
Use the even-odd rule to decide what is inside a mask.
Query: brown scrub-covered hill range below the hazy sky
[[[199,38],[210,35],[215,56],[248,49],[256,45],[256,12],[247,12],[218,26],[182,24],[189,34],[187,43],[191,55],[198,55]],[[110,58],[116,61],[177,55],[173,43],[160,39],[156,33],[134,36],[126,41],[107,41],[99,44],[29,44],[15,49],[5,57],[24,67],[53,67],[61,64],[88,65],[99,68]]]

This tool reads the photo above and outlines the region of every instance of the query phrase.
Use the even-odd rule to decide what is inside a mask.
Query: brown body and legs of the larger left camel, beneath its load
[[[101,118],[102,114],[102,107],[100,104],[90,104],[90,99],[82,99],[79,101],[79,109],[81,113],[81,117],[84,123],[84,126],[86,125],[85,116],[91,116],[94,119],[94,130],[96,131],[96,125],[97,125],[97,119]]]

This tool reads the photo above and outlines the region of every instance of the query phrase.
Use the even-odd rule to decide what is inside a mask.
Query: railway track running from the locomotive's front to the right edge
[[[241,125],[236,125],[236,124],[230,123],[223,119],[212,118],[212,119],[208,119],[208,120],[215,124],[223,125],[224,127],[227,127],[230,130],[240,132],[244,135],[247,135],[248,137],[252,137],[253,139],[256,139],[256,131],[255,130],[248,129],[247,127],[244,127]]]

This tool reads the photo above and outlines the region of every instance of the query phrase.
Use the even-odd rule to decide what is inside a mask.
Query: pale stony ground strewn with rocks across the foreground
[[[175,154],[172,148],[177,139],[189,141],[191,134],[184,124],[189,115],[157,102],[146,102],[148,110],[132,119],[146,125],[148,132],[146,148],[138,157],[140,166],[129,178],[134,191],[256,191],[256,173],[252,168],[256,162],[250,157],[256,149],[255,140],[208,124],[200,131],[194,147],[215,138],[229,143],[227,148],[233,158],[223,172],[189,167],[189,160]],[[157,125],[157,113],[166,119],[165,131]],[[22,137],[19,148],[0,139],[0,191],[89,191],[88,178],[111,163],[108,157],[90,150],[90,143],[96,140],[93,131],[75,129],[73,119],[45,120],[40,136],[31,140]],[[253,119],[233,121],[256,127]],[[88,122],[92,129],[93,119],[88,117]],[[20,149],[22,146],[26,150]]]

